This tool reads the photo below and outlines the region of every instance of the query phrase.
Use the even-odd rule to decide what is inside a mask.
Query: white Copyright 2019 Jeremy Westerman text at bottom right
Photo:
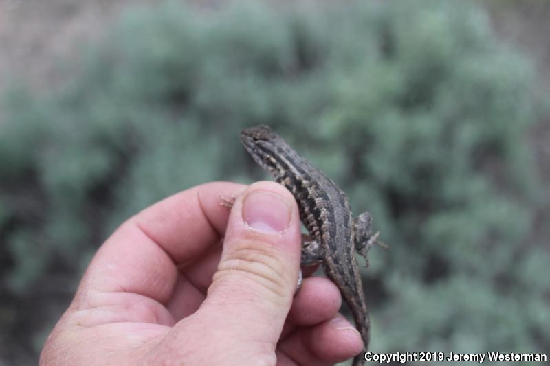
[[[365,361],[373,363],[407,363],[407,362],[503,362],[503,361],[548,361],[548,354],[545,353],[516,353],[516,352],[481,352],[481,353],[458,353],[458,352],[395,352],[375,353],[365,352]]]

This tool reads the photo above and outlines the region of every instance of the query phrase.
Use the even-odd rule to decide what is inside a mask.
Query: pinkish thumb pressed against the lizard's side
[[[250,185],[232,207],[201,310],[221,316],[218,326],[227,326],[236,340],[275,345],[296,290],[300,241],[292,194],[274,182]]]

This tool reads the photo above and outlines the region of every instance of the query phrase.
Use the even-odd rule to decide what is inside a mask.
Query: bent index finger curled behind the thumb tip
[[[177,265],[208,251],[224,235],[230,211],[220,205],[220,196],[236,196],[245,187],[207,183],[144,209],[98,250],[80,290],[137,293],[164,303]]]

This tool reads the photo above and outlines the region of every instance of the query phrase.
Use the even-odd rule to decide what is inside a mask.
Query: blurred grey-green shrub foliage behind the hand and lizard
[[[270,124],[391,244],[364,271],[372,350],[549,349],[550,255],[529,241],[536,80],[478,5],[169,2],[126,12],[68,66],[76,77],[50,95],[3,99],[3,312],[66,301],[98,244],[143,207],[268,178],[238,135]],[[45,308],[2,328],[28,339],[61,311]]]

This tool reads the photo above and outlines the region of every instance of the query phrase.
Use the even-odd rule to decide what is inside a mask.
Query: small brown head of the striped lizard
[[[241,141],[254,161],[275,176],[283,171],[278,161],[278,149],[285,144],[270,126],[260,125],[247,128],[241,132]]]

